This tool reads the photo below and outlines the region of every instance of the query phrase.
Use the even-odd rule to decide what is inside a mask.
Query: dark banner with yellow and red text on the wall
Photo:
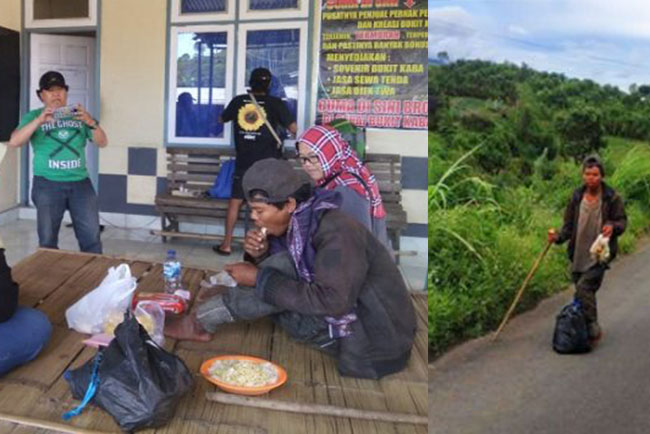
[[[427,128],[423,0],[323,0],[317,123]]]

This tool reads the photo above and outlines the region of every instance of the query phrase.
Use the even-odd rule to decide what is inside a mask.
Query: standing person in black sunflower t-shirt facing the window
[[[284,102],[268,95],[271,78],[271,71],[266,68],[256,68],[251,72],[248,82],[251,87],[250,93],[255,97],[263,113],[259,113],[251,95],[246,94],[233,98],[221,114],[222,122],[234,121],[236,161],[232,195],[226,215],[226,235],[223,243],[212,247],[212,250],[220,255],[230,255],[232,249],[235,222],[244,204],[244,191],[241,184],[244,172],[258,160],[282,157],[282,146],[278,144],[264,118],[274,130],[281,125],[294,136],[297,132],[296,120]]]

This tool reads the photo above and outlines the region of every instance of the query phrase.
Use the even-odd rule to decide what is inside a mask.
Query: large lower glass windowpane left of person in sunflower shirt
[[[232,93],[227,74],[232,59],[229,32],[178,29],[175,36],[170,141],[203,138],[207,140],[204,143],[217,143],[219,140],[214,139],[225,140],[226,132],[219,117]]]

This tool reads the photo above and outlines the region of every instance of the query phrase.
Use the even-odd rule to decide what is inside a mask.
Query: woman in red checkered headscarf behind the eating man
[[[300,137],[297,151],[316,186],[339,192],[341,211],[367,227],[392,252],[377,180],[341,134],[329,125],[315,125]]]

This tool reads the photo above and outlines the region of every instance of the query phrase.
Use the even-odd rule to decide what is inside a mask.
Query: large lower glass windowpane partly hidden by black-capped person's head
[[[273,79],[269,94],[284,100],[294,119],[298,115],[299,56],[299,29],[249,30],[246,33],[246,82],[253,69],[270,70]]]

